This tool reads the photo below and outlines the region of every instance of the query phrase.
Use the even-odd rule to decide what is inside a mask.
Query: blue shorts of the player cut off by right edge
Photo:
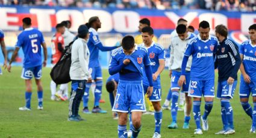
[[[241,78],[240,80],[240,98],[249,98],[252,92],[252,96],[256,97],[256,82],[246,83],[245,80]]]

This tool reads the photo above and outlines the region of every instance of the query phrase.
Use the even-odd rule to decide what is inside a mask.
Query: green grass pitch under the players
[[[102,89],[102,98],[106,103],[101,104],[102,109],[108,111],[107,114],[90,114],[86,115],[81,112],[80,115],[87,121],[69,122],[67,121],[68,101],[51,101],[50,100],[50,82],[49,72],[51,68],[43,68],[43,92],[44,102],[43,110],[37,110],[37,90],[33,81],[33,96],[31,100],[31,111],[20,111],[19,107],[24,106],[25,82],[20,78],[22,68],[13,67],[12,72],[3,71],[0,76],[0,137],[117,137],[117,121],[111,117],[111,107],[108,99],[108,93],[105,86]],[[103,70],[104,82],[108,77],[107,70]],[[216,77],[217,78],[217,77]],[[215,80],[217,82],[217,79]],[[170,79],[168,71],[164,70],[161,74],[162,101],[163,104],[169,86]],[[215,83],[215,86],[217,83]],[[217,88],[217,87],[215,87]],[[70,86],[69,86],[70,89]],[[215,90],[216,91],[216,90]],[[251,102],[250,98],[250,103]],[[204,105],[204,103],[202,103]],[[249,134],[251,119],[243,111],[239,101],[239,83],[236,94],[231,101],[234,110],[234,126],[236,134],[231,136],[216,136],[214,133],[222,129],[220,117],[220,101],[214,99],[213,110],[208,117],[209,130],[203,131],[202,136],[194,135],[195,122],[192,116],[190,129],[183,130],[184,113],[178,112],[178,129],[169,130],[167,125],[170,124],[170,111],[163,111],[163,121],[161,127],[162,137],[256,137],[255,134]],[[89,108],[92,110],[93,96],[90,92]],[[204,111],[204,106],[201,106]],[[203,112],[202,112],[203,113]],[[142,131],[139,137],[152,137],[154,133],[154,116],[142,116]]]

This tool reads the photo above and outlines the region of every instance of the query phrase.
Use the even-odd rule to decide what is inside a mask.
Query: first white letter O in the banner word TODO
[[[56,13],[57,23],[61,23],[63,20],[70,20],[71,28],[69,29],[72,32],[77,32],[77,28],[84,24],[84,16],[78,10],[59,10]]]

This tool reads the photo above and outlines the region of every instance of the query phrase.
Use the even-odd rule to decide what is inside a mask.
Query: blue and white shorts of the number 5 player
[[[25,80],[30,80],[35,77],[35,79],[41,79],[42,77],[42,65],[31,68],[22,68],[21,78]]]

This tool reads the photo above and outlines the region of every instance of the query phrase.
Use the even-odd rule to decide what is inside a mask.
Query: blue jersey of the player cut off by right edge
[[[252,82],[256,81],[256,46],[252,46],[251,40],[243,42],[240,46],[240,54],[243,55],[243,66],[246,74]],[[243,77],[243,76],[242,76]]]

